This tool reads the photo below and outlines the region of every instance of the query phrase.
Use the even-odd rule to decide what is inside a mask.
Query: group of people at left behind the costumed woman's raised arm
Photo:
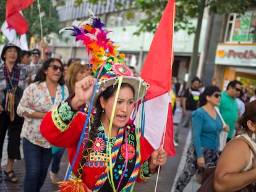
[[[75,81],[92,75],[88,64],[82,65],[80,59],[74,61],[67,78],[68,65],[60,59],[50,57],[44,51],[46,44],[41,41],[40,48],[32,51],[21,50],[7,43],[1,52],[0,65],[0,182],[2,172],[10,182],[17,183],[19,178],[13,169],[15,159],[20,159],[20,139],[22,139],[25,162],[24,191],[39,191],[47,175],[49,164],[50,178],[58,184],[59,164],[65,148],[53,154],[52,146],[41,136],[41,120],[51,108],[69,96]],[[41,57],[41,51],[44,56]],[[48,58],[48,59],[46,59]],[[82,67],[80,67],[82,66]],[[67,85],[70,77],[74,81]],[[68,79],[68,81],[67,81]],[[70,85],[72,86],[70,87]],[[69,87],[69,88],[67,88]],[[7,165],[1,170],[4,140],[8,136]]]

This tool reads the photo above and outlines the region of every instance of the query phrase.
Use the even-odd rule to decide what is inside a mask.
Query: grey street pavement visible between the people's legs
[[[181,119],[181,108],[177,108],[175,115],[174,115],[174,126],[177,126],[177,123],[179,123],[179,120]],[[160,174],[157,176],[153,176],[147,180],[147,182],[137,183],[134,187],[134,192],[140,192],[140,191],[156,191],[157,192],[173,192],[174,191],[174,185],[176,183],[177,178],[182,172],[182,169],[184,167],[184,163],[186,161],[186,154],[187,154],[187,148],[189,147],[191,140],[191,130],[188,128],[182,128],[179,138],[179,146],[176,148],[176,156],[174,157],[168,157],[168,161],[166,164],[161,168]],[[22,153],[22,144],[21,146],[21,153]],[[14,171],[17,177],[19,177],[18,183],[11,183],[7,179],[6,175],[4,175],[4,167],[7,163],[7,139],[4,143],[4,150],[3,150],[3,156],[2,156],[2,182],[0,183],[0,191],[2,192],[19,192],[23,191],[23,179],[25,175],[25,165],[22,160],[15,161],[14,162]],[[59,178],[61,180],[64,179],[66,175],[66,169],[68,165],[68,158],[67,158],[67,150],[64,152],[64,155],[61,159],[61,169],[59,171]],[[157,182],[156,182],[157,181]],[[193,177],[190,181],[190,183],[187,185],[184,192],[195,192],[199,188],[199,184],[196,182],[195,177]],[[49,170],[48,175],[45,179],[45,183],[42,186],[40,192],[46,192],[46,191],[57,191],[59,190],[58,185],[54,185],[51,183],[49,178]],[[32,191],[33,192],[33,191]]]

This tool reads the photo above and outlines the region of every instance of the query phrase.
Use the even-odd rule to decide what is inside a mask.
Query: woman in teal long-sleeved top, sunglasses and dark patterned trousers
[[[220,132],[228,131],[215,111],[220,104],[220,89],[207,86],[202,93],[200,107],[192,115],[192,143],[187,150],[185,167],[176,182],[176,192],[183,191],[195,172],[202,173],[206,167],[216,166],[220,157]]]

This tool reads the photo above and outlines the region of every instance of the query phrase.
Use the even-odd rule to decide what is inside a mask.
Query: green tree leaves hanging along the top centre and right
[[[83,1],[85,0],[76,0],[75,6],[79,6]],[[98,4],[99,1],[106,2],[106,0],[88,0],[88,2],[92,2],[93,4]],[[139,28],[136,32],[136,34],[139,35],[143,31],[155,33],[167,2],[168,0],[124,0],[117,1],[116,8],[124,9],[124,7],[129,4],[127,15],[134,15],[132,14],[134,9],[138,9],[147,15],[145,19],[139,22]],[[190,19],[198,18],[199,15],[202,15],[205,7],[209,7],[214,14],[229,12],[243,14],[253,3],[254,0],[176,0],[174,30],[182,29],[187,30],[189,34],[194,33],[195,27],[192,25],[192,22],[190,22]],[[129,16],[127,18],[129,18]]]

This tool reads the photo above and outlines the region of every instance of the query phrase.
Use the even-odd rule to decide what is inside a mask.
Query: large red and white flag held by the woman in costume
[[[150,87],[145,97],[145,132],[149,154],[161,144],[168,156],[175,155],[171,77],[173,65],[173,29],[175,0],[168,1],[147,58],[140,73]],[[163,140],[164,139],[164,140]]]

